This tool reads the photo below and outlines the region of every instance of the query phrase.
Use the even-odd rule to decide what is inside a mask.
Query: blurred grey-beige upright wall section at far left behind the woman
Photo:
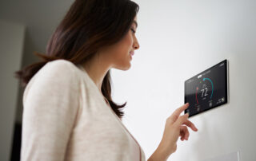
[[[18,101],[19,87],[14,72],[21,68],[25,26],[0,20],[0,35],[0,160],[7,161]]]

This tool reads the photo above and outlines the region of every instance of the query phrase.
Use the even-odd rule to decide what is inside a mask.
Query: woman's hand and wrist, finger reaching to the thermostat
[[[162,159],[166,160],[168,157],[174,153],[177,149],[177,140],[181,136],[181,140],[188,140],[190,132],[187,127],[190,127],[194,132],[198,129],[193,123],[188,120],[188,114],[180,116],[180,114],[189,107],[186,103],[182,107],[177,108],[175,112],[169,116],[166,120],[165,131],[162,136],[162,140],[158,146],[159,153],[162,153]]]

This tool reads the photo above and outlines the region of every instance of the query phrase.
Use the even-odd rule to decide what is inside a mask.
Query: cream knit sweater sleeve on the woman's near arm
[[[79,79],[69,61],[52,61],[23,95],[21,160],[61,161],[79,108]]]

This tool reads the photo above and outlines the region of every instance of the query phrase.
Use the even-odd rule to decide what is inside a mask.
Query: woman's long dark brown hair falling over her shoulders
[[[34,53],[42,61],[15,72],[25,87],[30,79],[49,61],[64,59],[83,64],[90,61],[102,47],[120,41],[129,31],[139,6],[130,0],[75,0],[46,46],[46,54]],[[111,97],[110,71],[102,82],[102,94],[122,119],[125,104],[115,104]]]

